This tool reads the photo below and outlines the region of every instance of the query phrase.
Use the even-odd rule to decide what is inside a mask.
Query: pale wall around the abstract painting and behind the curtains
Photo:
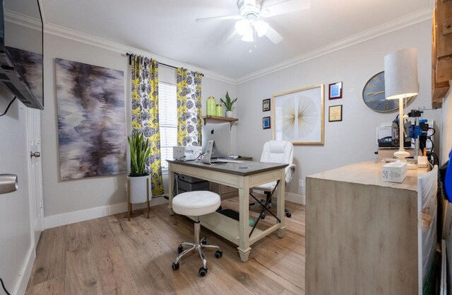
[[[113,206],[126,202],[126,175],[112,175],[81,180],[59,180],[59,150],[58,150],[58,122],[57,122],[57,96],[55,88],[55,62],[56,57],[76,62],[104,66],[109,69],[124,71],[124,96],[126,98],[126,120],[130,121],[129,86],[129,59],[124,53],[105,50],[101,47],[88,45],[75,40],[45,34],[44,66],[47,71],[44,78],[45,110],[42,113],[42,170],[44,190],[44,216],[46,226],[64,224],[64,221],[76,221],[85,215],[86,219],[93,218],[99,212],[112,214],[126,211],[125,206]],[[153,57],[149,54],[148,57]],[[158,59],[157,59],[158,60]],[[176,64],[172,62],[165,63]],[[177,65],[177,64],[176,64]],[[160,67],[162,77],[171,76],[171,71]],[[208,96],[220,96],[229,90],[235,94],[235,86],[229,83],[203,78],[203,108]],[[205,113],[205,111],[203,111]],[[127,124],[128,130],[131,126]],[[129,133],[129,132],[128,132]],[[126,140],[124,138],[124,140]],[[167,176],[164,176],[167,187]],[[152,202],[161,202],[154,199]],[[110,206],[106,209],[106,206]],[[70,212],[76,212],[68,214]],[[59,215],[63,214],[63,215]]]

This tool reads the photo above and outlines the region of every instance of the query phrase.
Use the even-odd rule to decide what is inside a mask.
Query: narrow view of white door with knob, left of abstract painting
[[[27,108],[28,186],[30,191],[30,226],[32,240],[40,239],[43,230],[44,199],[42,198],[41,111]]]

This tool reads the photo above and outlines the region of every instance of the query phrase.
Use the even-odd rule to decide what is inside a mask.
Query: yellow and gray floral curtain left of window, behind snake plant
[[[132,134],[149,139],[150,155],[145,163],[150,174],[154,196],[163,194],[162,162],[160,158],[160,123],[158,119],[158,62],[148,57],[133,56]]]

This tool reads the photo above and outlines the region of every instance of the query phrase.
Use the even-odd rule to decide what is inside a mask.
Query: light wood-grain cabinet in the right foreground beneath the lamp
[[[382,165],[307,177],[307,295],[418,294],[417,176],[426,171],[385,183]]]

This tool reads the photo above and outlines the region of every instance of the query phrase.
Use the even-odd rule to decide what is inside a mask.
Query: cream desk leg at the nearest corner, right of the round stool
[[[249,247],[249,177],[240,179],[239,184],[239,250],[240,259],[246,262],[251,248]]]

